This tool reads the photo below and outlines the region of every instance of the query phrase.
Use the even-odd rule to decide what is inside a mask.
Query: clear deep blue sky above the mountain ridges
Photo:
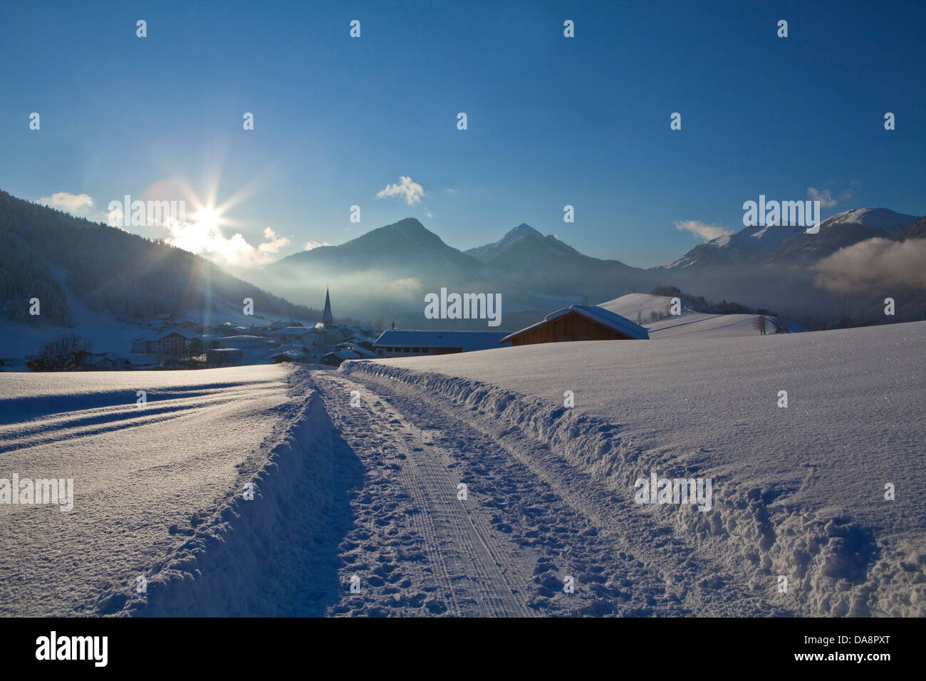
[[[743,202],[759,194],[831,196],[823,217],[926,213],[922,2],[0,11],[0,188],[31,200],[87,195],[94,205],[78,204],[88,214],[126,194],[182,198],[181,183],[218,204],[233,197],[204,246],[219,260],[226,242],[259,262],[412,216],[458,248],[527,222],[589,255],[648,267],[704,240],[678,223],[742,229]],[[574,38],[563,36],[566,19]],[[681,131],[669,130],[675,111]],[[377,197],[400,177],[415,190]]]

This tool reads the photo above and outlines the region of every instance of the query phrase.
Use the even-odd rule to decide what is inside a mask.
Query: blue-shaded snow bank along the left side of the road
[[[338,511],[332,424],[314,391],[288,409],[292,423],[269,443],[259,470],[244,470],[215,507],[170,528],[188,539],[147,567],[146,593],[110,589],[97,599],[97,614],[323,614],[337,590],[326,523]]]

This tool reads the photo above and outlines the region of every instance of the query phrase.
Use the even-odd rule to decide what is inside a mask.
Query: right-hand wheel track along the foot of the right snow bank
[[[517,460],[530,471],[535,478],[532,482],[535,488],[545,486],[567,507],[567,515],[573,516],[569,522],[586,523],[594,528],[598,546],[578,536],[580,533],[572,532],[564,551],[571,551],[574,558],[584,557],[585,561],[591,561],[592,574],[587,577],[594,578],[594,572],[605,567],[610,574],[632,575],[631,579],[622,580],[632,583],[632,597],[639,591],[648,594],[641,607],[615,604],[622,614],[755,616],[781,613],[780,608],[773,608],[749,585],[739,583],[729,571],[699,554],[695,546],[682,537],[673,536],[668,524],[656,518],[640,522],[639,510],[632,504],[617,498],[588,473],[575,468],[544,442],[519,428],[500,422],[491,414],[482,414],[475,407],[450,403],[389,378],[366,372],[353,372],[350,378],[362,381],[368,390],[375,390],[401,404],[413,421],[456,421],[455,425],[461,429],[478,431],[491,439],[496,450],[504,451],[508,458]],[[566,523],[566,516],[563,518]],[[604,556],[610,556],[617,565],[603,565]],[[578,560],[581,562],[582,558]],[[699,576],[693,580],[694,575]],[[604,610],[607,611],[607,606]]]

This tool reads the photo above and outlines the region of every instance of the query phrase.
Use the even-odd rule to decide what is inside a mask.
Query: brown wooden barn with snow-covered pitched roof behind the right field
[[[501,343],[530,346],[579,340],[648,340],[644,327],[596,305],[570,305],[557,309],[526,329],[508,334]]]

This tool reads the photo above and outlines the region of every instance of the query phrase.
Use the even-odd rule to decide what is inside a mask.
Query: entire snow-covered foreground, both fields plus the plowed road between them
[[[0,504],[0,614],[922,616],[924,341],[0,373],[0,479],[74,481]]]

